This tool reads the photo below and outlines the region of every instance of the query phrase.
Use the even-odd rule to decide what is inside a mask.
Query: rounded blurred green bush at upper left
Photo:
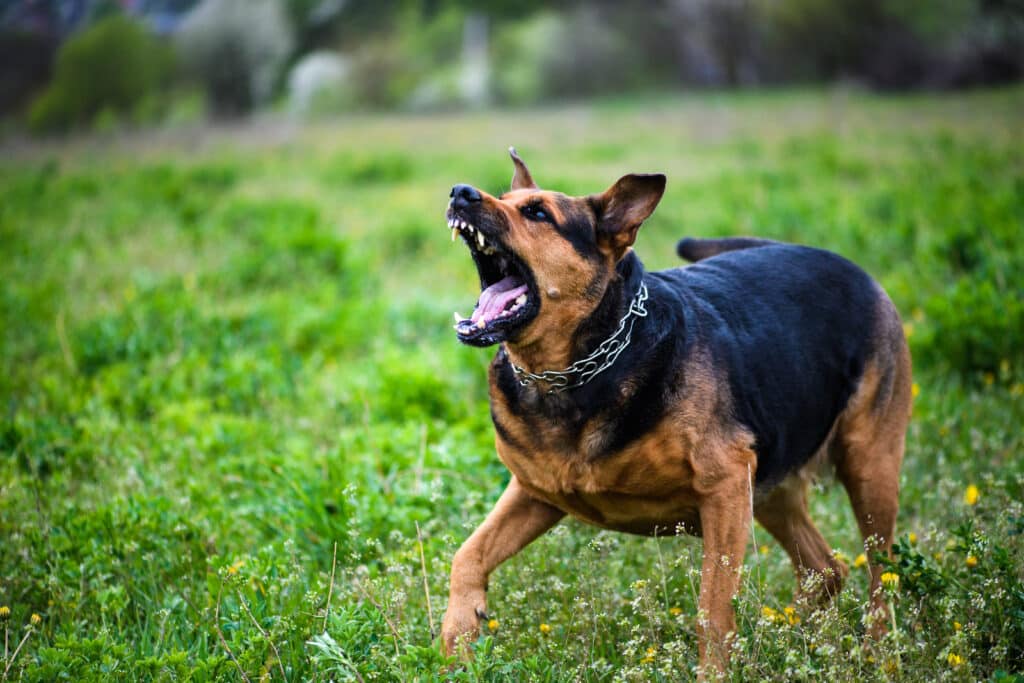
[[[103,18],[60,46],[50,85],[33,102],[29,127],[66,130],[145,108],[173,70],[172,50],[141,25]]]

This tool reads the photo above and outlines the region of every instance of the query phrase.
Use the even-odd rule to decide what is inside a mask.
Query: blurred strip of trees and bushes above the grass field
[[[1021,0],[0,0],[10,132],[1024,74]]]

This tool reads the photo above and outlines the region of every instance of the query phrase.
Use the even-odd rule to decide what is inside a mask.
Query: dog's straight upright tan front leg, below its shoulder
[[[729,634],[736,632],[732,599],[739,591],[740,567],[751,528],[746,470],[721,482],[700,505],[703,561],[700,565],[700,614],[697,649],[701,678],[725,671]]]

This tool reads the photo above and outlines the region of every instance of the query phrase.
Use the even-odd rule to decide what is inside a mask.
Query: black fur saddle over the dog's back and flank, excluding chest
[[[651,276],[690,295],[699,328],[688,332],[727,371],[734,417],[756,438],[757,483],[776,483],[825,441],[887,327],[888,298],[830,252],[688,242],[690,254],[708,257]]]

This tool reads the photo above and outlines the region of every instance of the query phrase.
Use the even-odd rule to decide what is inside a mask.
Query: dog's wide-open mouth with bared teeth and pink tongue
[[[452,240],[462,236],[480,276],[480,297],[473,314],[455,313],[459,341],[489,346],[514,337],[540,308],[532,274],[521,259],[504,246],[493,230],[474,225],[454,210],[447,213]]]

